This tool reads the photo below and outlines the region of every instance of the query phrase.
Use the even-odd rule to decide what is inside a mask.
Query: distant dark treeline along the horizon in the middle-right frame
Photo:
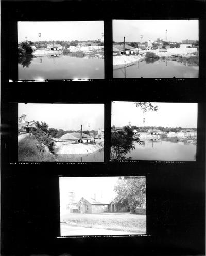
[[[115,129],[115,126],[113,125],[112,126],[112,130]],[[144,129],[142,126],[135,126],[135,125],[132,125],[131,126],[131,129],[132,130],[137,130],[138,132],[147,132],[149,129],[154,129],[154,130],[160,130],[162,132],[180,132],[182,130],[194,130],[194,131],[197,131],[197,128],[185,128],[185,127],[163,127],[163,126],[145,126]]]

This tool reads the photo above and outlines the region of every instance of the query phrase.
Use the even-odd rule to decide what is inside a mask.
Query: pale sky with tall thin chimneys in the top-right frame
[[[113,20],[113,41],[165,40],[166,29],[167,41],[199,40],[198,20]]]

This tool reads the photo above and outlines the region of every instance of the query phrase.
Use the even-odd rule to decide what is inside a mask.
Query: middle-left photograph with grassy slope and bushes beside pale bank
[[[104,162],[104,104],[18,104],[18,161]]]

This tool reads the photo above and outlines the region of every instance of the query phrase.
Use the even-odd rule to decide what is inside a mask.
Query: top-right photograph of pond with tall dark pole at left
[[[198,20],[113,20],[113,78],[198,78]]]

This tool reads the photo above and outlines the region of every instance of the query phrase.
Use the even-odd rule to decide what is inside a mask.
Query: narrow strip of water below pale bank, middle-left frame
[[[59,162],[104,162],[104,150],[91,154],[56,154]]]

